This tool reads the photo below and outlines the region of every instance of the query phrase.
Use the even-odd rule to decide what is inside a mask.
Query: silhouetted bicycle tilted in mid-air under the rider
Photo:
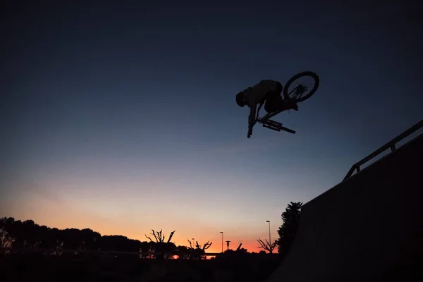
[[[300,82],[302,80],[307,80],[307,82]],[[310,86],[309,82],[314,82],[314,85]],[[314,94],[314,92],[316,92],[317,88],[319,87],[319,82],[319,76],[312,71],[303,71],[302,73],[297,73],[285,83],[283,87],[283,98],[293,99],[297,104],[303,102],[309,99],[309,97],[312,97],[312,94]],[[269,128],[271,130],[283,130],[288,133],[295,134],[294,130],[286,128],[282,126],[282,123],[278,123],[277,121],[272,121],[270,119],[271,117],[276,116],[277,114],[280,114],[282,111],[286,111],[287,109],[280,109],[272,113],[267,113],[265,116],[260,118],[259,111],[261,108],[262,104],[260,104],[259,109],[257,110],[255,123],[262,124],[263,127]]]

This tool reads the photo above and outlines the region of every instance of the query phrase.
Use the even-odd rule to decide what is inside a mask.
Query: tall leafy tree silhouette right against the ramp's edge
[[[297,233],[300,223],[302,202],[290,202],[285,212],[282,213],[283,224],[278,229],[279,239],[277,240],[278,253],[285,257]]]

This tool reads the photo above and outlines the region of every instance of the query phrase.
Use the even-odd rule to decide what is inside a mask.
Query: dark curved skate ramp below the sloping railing
[[[423,281],[422,177],[419,135],[304,204],[267,281]]]

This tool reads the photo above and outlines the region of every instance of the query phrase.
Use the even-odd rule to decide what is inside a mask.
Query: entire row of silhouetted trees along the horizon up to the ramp
[[[278,252],[286,255],[290,244],[293,241],[295,232],[300,220],[300,209],[302,203],[288,204],[286,212],[283,212],[283,225],[279,228],[280,238],[274,243],[263,242],[259,247],[273,252],[274,247],[278,247]],[[11,248],[12,250],[43,249],[60,253],[64,250],[77,251],[113,251],[113,252],[140,252],[140,257],[164,258],[166,254],[179,255],[180,258],[204,259],[205,250],[212,243],[199,244],[188,240],[189,247],[185,245],[176,246],[171,242],[172,231],[168,238],[162,231],[154,231],[145,235],[147,240],[133,240],[123,235],[101,235],[89,228],[49,228],[39,226],[32,220],[15,220],[13,217],[3,217],[0,219],[0,248]],[[263,253],[262,251],[261,253]],[[247,250],[238,246],[236,250],[226,250],[229,254],[247,254]]]

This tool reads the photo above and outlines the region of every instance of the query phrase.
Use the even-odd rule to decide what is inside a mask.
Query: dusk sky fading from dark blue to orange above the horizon
[[[1,12],[0,216],[257,252],[422,119],[417,1],[87,2]],[[235,94],[300,71],[319,90],[275,118],[297,134],[247,139]]]

